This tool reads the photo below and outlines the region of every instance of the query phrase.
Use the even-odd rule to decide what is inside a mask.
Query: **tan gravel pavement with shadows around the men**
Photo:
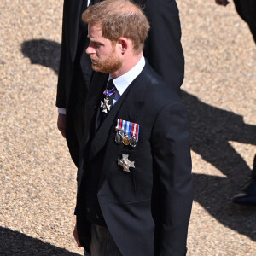
[[[177,4],[195,182],[189,256],[253,256],[256,209],[230,202],[256,152],[253,37],[233,3]],[[56,128],[62,1],[1,0],[0,9],[0,255],[81,255],[76,170]]]

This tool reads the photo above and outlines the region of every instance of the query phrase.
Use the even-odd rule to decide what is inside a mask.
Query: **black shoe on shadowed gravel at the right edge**
[[[247,207],[256,207],[256,180],[253,179],[241,189],[241,193],[235,195],[233,203]]]

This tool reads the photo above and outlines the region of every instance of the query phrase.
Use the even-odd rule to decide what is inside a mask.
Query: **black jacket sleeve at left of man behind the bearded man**
[[[67,108],[66,106],[66,74],[67,74],[67,40],[66,40],[66,1],[63,4],[61,57],[57,84],[56,107]]]

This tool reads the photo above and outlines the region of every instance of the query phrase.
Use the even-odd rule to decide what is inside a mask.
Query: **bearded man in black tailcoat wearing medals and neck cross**
[[[148,20],[125,0],[96,3],[83,20],[96,72],[83,110],[76,241],[92,256],[185,255],[189,119],[143,57]]]

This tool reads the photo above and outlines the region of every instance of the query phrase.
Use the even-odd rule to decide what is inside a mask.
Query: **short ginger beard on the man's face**
[[[98,61],[98,60],[95,60]],[[122,67],[122,60],[115,54],[114,48],[108,59],[105,61],[98,61],[96,64],[91,63],[91,67],[96,72],[114,73]]]

